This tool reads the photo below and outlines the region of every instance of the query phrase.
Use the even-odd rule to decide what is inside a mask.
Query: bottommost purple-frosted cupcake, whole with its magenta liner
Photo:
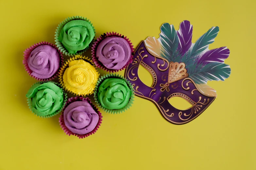
[[[88,97],[77,96],[67,100],[59,122],[67,135],[84,138],[98,130],[102,121],[101,118],[101,113]]]

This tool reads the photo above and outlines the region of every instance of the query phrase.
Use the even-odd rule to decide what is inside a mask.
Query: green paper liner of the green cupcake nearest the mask
[[[121,78],[121,79],[123,79],[123,80],[126,81],[126,83],[127,83],[127,85],[129,86],[129,88],[130,88],[132,94],[131,94],[131,97],[130,97],[130,100],[129,100],[128,104],[127,104],[124,108],[111,110],[111,109],[107,109],[107,108],[101,106],[100,102],[98,101],[98,97],[97,97],[97,89],[98,89],[98,87],[100,86],[100,84],[101,84],[106,78]],[[104,75],[104,76],[102,76],[101,78],[99,78],[99,81],[97,82],[96,88],[95,88],[95,91],[94,91],[94,99],[95,99],[95,102],[96,102],[96,104],[98,105],[98,107],[100,107],[103,111],[105,111],[105,112],[107,112],[107,113],[111,113],[111,114],[112,114],[112,113],[113,113],[113,114],[115,114],[115,113],[116,113],[116,114],[117,114],[117,113],[122,113],[122,112],[126,111],[128,108],[130,108],[130,106],[133,104],[133,101],[134,101],[134,90],[133,90],[133,87],[132,87],[131,83],[130,83],[126,78],[124,78],[124,77],[121,76],[121,75],[116,75],[116,74],[111,73],[111,74],[107,74],[107,75]]]

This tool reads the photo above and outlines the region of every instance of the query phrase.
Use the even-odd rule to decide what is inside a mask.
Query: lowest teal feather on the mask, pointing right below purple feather
[[[196,84],[207,83],[207,81],[224,81],[230,76],[230,66],[225,63],[212,62],[202,66],[197,64],[192,69],[188,70],[189,77],[192,78]]]

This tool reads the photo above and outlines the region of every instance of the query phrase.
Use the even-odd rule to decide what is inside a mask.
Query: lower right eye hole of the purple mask
[[[179,96],[170,98],[168,102],[179,110],[187,110],[192,107],[192,105],[186,99]]]

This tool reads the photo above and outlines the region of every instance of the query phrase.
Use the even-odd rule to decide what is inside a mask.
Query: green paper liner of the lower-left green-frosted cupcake
[[[63,88],[60,86],[59,83],[56,83],[56,82],[53,82],[53,81],[39,81],[39,82],[34,83],[33,85],[38,84],[38,83],[41,83],[41,84],[42,84],[42,83],[47,83],[47,82],[54,83],[54,84],[56,84],[57,86],[59,86],[59,87],[62,89],[63,94],[64,94],[64,101],[63,101],[62,107],[60,108],[60,110],[59,110],[58,112],[56,112],[56,113],[54,113],[54,114],[51,114],[51,115],[39,116],[39,115],[35,114],[35,113],[32,111],[32,100],[31,100],[31,98],[28,98],[28,99],[27,99],[27,104],[28,104],[29,109],[32,111],[32,113],[34,113],[34,115],[39,116],[39,117],[42,117],[42,118],[50,118],[50,117],[53,117],[53,116],[59,114],[59,113],[62,111],[62,109],[64,108],[64,106],[65,106],[65,104],[66,104],[66,101],[67,101],[67,97],[68,97],[68,96],[67,96],[67,93],[65,93],[65,91],[63,90]],[[33,85],[32,85],[32,86],[33,86]],[[32,87],[32,86],[31,86],[31,87]]]

